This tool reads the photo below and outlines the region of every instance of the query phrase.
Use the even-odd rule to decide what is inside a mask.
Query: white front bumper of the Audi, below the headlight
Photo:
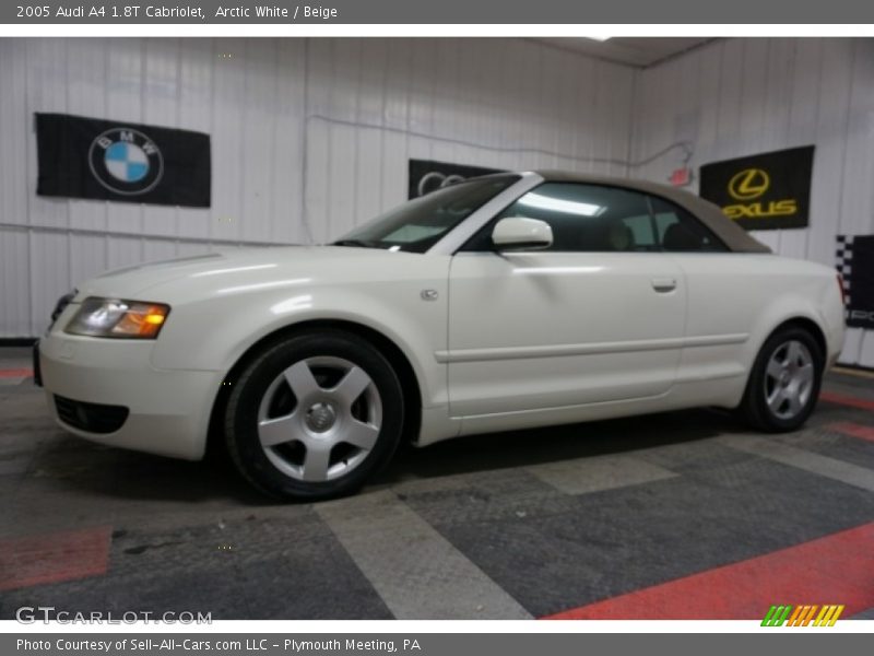
[[[54,419],[64,430],[108,446],[188,460],[202,458],[221,374],[156,370],[150,363],[153,347],[151,340],[110,340],[52,330],[40,340],[36,353]],[[81,422],[74,422],[79,426],[69,423],[69,412],[68,421],[63,420],[57,397],[81,405],[121,407],[128,413],[118,430],[86,431]]]

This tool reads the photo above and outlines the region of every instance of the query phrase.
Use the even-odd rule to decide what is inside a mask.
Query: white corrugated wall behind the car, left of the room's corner
[[[0,338],[110,267],[335,237],[410,157],[625,175],[634,79],[520,39],[0,39]],[[212,208],[37,197],[35,112],[209,132]]]

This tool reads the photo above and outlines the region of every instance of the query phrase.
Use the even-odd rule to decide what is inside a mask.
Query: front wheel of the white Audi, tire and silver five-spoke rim
[[[400,441],[398,377],[377,349],[352,333],[285,339],[255,358],[232,385],[228,452],[243,476],[272,496],[353,492]]]

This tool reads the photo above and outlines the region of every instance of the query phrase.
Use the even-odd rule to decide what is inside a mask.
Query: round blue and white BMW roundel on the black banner
[[[113,128],[91,143],[88,165],[97,181],[116,194],[145,194],[161,181],[164,157],[145,134]]]

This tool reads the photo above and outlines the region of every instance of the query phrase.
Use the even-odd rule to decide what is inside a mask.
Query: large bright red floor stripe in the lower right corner
[[[874,607],[874,523],[544,619],[760,620],[772,604]]]

